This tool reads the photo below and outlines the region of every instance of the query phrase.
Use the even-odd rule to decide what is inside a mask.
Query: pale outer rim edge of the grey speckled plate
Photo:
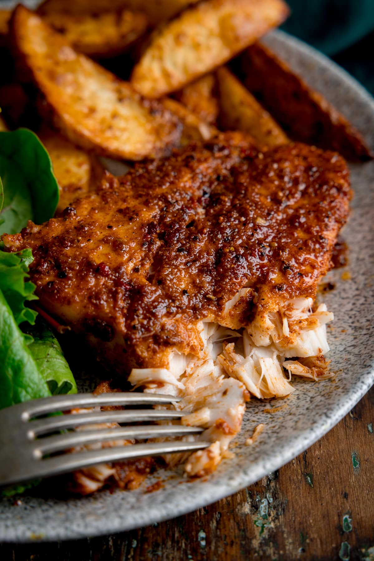
[[[347,71],[337,65],[334,61],[326,57],[324,54],[318,52],[310,45],[304,43],[302,40],[297,39],[294,36],[289,35],[288,33],[285,33],[285,31],[274,30],[269,35],[274,36],[277,40],[280,40],[281,43],[286,43],[290,48],[297,49],[302,56],[307,57],[309,60],[321,63],[324,68],[327,68],[327,71],[333,71],[336,78],[338,78],[342,82],[345,82],[345,84],[348,83],[350,88],[354,90],[357,95],[361,96],[363,102],[368,106],[368,111],[372,111],[374,115],[374,98],[364,88],[364,86],[359,84],[359,82],[355,80],[354,77],[352,77]],[[264,39],[266,40],[266,38]],[[114,520],[110,518],[110,521],[107,522],[107,525],[105,525],[105,521],[103,521],[103,524],[101,528],[99,528],[99,530],[97,527],[91,527],[90,530],[90,523],[87,523],[87,527],[83,527],[79,531],[74,531],[73,528],[69,528],[70,532],[68,532],[67,528],[64,528],[62,532],[52,530],[52,532],[48,533],[48,528],[45,528],[46,534],[40,537],[27,533],[26,529],[21,532],[17,532],[15,528],[12,528],[12,530],[10,530],[10,528],[6,528],[0,522],[0,540],[3,542],[17,541],[22,543],[35,543],[41,541],[48,542],[56,540],[67,541],[108,534],[112,535],[118,532],[134,530],[135,528],[141,526],[148,526],[156,522],[163,522],[170,518],[182,516],[183,514],[188,514],[198,508],[205,507],[220,499],[225,498],[226,496],[237,493],[237,491],[253,484],[253,482],[258,481],[259,479],[261,479],[261,477],[266,476],[270,471],[278,470],[280,467],[290,462],[293,458],[295,458],[304,450],[309,448],[312,444],[317,442],[317,440],[320,440],[322,436],[324,436],[336,424],[338,424],[338,422],[343,419],[343,417],[347,415],[347,413],[355,406],[355,404],[357,404],[358,401],[368,392],[373,384],[374,365],[372,364],[371,371],[365,374],[364,379],[361,378],[359,380],[359,383],[357,382],[355,385],[353,385],[352,392],[349,393],[347,401],[343,405],[340,405],[340,407],[329,418],[324,419],[323,422],[316,422],[313,425],[313,429],[310,430],[310,434],[307,434],[307,430],[304,430],[297,438],[294,438],[291,441],[287,452],[276,455],[273,462],[271,463],[271,470],[269,470],[266,465],[262,465],[262,469],[257,470],[257,472],[255,473],[255,477],[247,475],[246,472],[242,471],[241,475],[237,477],[236,483],[234,485],[226,482],[226,484],[215,486],[215,492],[211,493],[209,499],[207,499],[204,493],[197,493],[196,500],[190,500],[188,504],[181,500],[177,506],[174,505],[172,513],[159,514],[159,516],[157,515],[157,513],[154,513],[153,515],[147,513],[150,514],[150,516],[144,516],[143,522],[140,522],[138,518],[131,522],[131,517],[127,518],[126,520],[121,517],[117,517]]]

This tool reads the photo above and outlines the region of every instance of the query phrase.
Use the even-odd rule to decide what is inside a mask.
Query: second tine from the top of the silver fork
[[[62,429],[72,429],[82,425],[95,425],[104,422],[137,422],[156,421],[159,419],[180,419],[186,413],[165,410],[122,410],[122,411],[93,411],[91,413],[70,413],[57,417],[47,417],[30,421],[27,425],[27,436],[30,440],[40,434],[52,433]]]

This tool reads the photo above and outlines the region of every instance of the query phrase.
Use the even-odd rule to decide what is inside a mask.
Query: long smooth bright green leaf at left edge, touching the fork
[[[0,290],[0,409],[48,397],[47,383],[36,366],[25,338]]]

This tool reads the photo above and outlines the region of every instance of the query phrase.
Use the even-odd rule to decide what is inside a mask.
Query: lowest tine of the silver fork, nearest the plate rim
[[[38,477],[59,475],[84,467],[94,466],[97,463],[116,462],[119,460],[143,458],[145,456],[162,456],[163,454],[176,452],[193,452],[194,450],[207,448],[210,444],[209,442],[183,441],[156,442],[63,454],[63,456],[39,460]]]

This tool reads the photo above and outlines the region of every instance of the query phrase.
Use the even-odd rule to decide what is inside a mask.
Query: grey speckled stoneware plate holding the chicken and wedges
[[[266,38],[281,57],[326,95],[374,146],[374,100],[343,70],[298,40],[276,31]],[[99,492],[79,499],[24,496],[22,504],[0,503],[0,541],[66,540],[109,534],[173,518],[212,503],[289,462],[327,433],[374,382],[374,162],[352,166],[353,212],[344,237],[350,246],[349,280],[330,273],[336,289],[325,302],[334,311],[329,342],[336,381],[295,383],[295,392],[269,414],[269,404],[248,404],[235,457],[209,479],[187,483],[180,473],[159,471],[164,488],[151,494]],[[344,275],[349,277],[349,275]],[[343,331],[344,330],[344,331]],[[273,403],[276,406],[277,403]],[[259,422],[264,433],[251,446],[247,436]],[[155,479],[154,479],[155,480]],[[149,485],[154,480],[148,480]]]

